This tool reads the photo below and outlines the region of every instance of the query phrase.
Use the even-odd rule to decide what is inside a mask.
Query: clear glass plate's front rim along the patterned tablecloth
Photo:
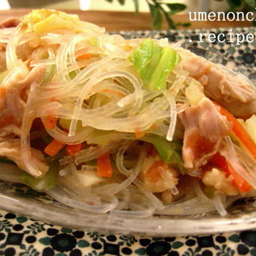
[[[235,232],[256,228],[256,210],[221,217],[168,218],[150,216],[123,218],[112,214],[96,214],[63,206],[46,205],[34,199],[0,192],[1,208],[49,224],[108,234],[140,236],[172,236]]]

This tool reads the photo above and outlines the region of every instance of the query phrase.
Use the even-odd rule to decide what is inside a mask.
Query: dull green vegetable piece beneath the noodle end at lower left
[[[59,170],[58,160],[48,162],[49,170],[42,178],[34,178],[27,172],[22,172],[20,179],[28,186],[35,188],[36,190],[45,190],[53,187],[56,183],[57,174]]]

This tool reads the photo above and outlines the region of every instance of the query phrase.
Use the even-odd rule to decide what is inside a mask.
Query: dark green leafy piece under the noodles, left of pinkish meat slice
[[[169,142],[165,138],[157,135],[144,136],[141,140],[152,143],[164,162],[178,166],[180,172],[182,174],[185,173],[186,169],[182,161],[182,156],[179,153],[181,147],[179,142]]]

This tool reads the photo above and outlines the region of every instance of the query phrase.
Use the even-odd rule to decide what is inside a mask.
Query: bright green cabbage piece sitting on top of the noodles
[[[140,74],[145,88],[162,90],[168,74],[180,62],[180,55],[171,47],[160,47],[154,40],[144,40],[128,58]]]

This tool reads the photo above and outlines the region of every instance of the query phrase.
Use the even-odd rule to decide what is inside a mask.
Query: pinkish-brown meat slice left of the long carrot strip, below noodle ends
[[[182,146],[184,166],[198,172],[200,166],[216,154],[231,124],[208,98],[203,98],[198,105],[190,106],[179,117],[185,127]]]

